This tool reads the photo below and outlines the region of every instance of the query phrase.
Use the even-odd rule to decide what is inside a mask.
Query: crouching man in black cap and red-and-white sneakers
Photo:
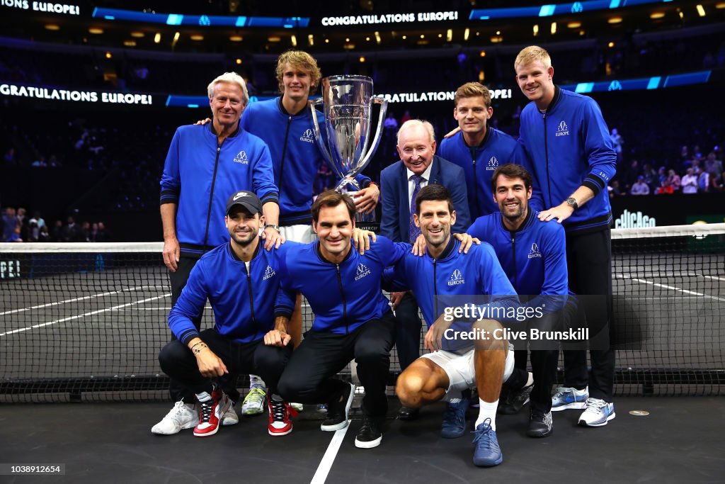
[[[280,290],[278,253],[264,250],[259,231],[265,223],[262,202],[253,192],[229,197],[224,221],[231,239],[202,256],[186,287],[169,313],[169,327],[178,340],[162,348],[159,362],[170,377],[196,393],[201,411],[178,402],[170,414],[181,428],[194,427],[196,437],[214,435],[220,424],[239,422],[231,401],[215,382],[224,374],[258,374],[270,387],[270,435],[292,431],[290,414],[297,412],[276,393],[277,382],[289,361],[290,336],[273,337],[275,327],[286,327],[294,299]],[[212,329],[198,332],[191,321],[210,300],[215,316]],[[275,332],[274,336],[278,336]]]

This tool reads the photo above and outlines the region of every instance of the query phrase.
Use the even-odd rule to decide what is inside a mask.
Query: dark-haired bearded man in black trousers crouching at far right
[[[492,177],[493,197],[500,213],[477,218],[467,233],[488,242],[494,250],[513,288],[522,299],[533,299],[529,305],[537,304],[535,296],[560,296],[549,298],[544,305],[561,306],[549,317],[559,318],[564,313],[568,290],[566,268],[566,236],[558,223],[540,221],[529,208],[531,173],[521,165],[501,165]],[[546,298],[544,298],[546,299]],[[548,304],[547,304],[548,302]],[[542,319],[534,319],[533,327],[542,329]],[[555,343],[552,343],[555,344]],[[520,343],[518,352],[521,350]],[[516,358],[516,366],[526,368],[526,342],[523,342],[523,358]],[[531,350],[531,369],[534,372],[534,387],[531,390],[531,412],[529,435],[547,437],[551,434],[551,385],[556,373],[558,351],[554,347]],[[511,396],[511,395],[509,395]],[[508,398],[502,413],[512,414],[525,401]]]

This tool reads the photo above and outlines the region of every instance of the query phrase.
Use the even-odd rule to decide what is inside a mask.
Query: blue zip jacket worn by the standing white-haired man
[[[212,130],[212,123],[178,128],[161,176],[161,204],[178,204],[181,253],[196,257],[228,241],[224,216],[231,194],[250,190],[262,204],[278,202],[264,141],[238,129],[218,145]]]

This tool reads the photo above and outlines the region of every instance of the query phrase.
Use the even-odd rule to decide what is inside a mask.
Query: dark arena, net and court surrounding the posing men
[[[723,482],[725,1],[0,0],[0,12],[2,482]],[[557,412],[537,440],[528,409],[499,416],[505,462],[475,467],[473,433],[440,438],[442,403],[395,419],[393,350],[378,448],[320,432],[312,405],[284,438],[266,414],[211,439],[153,435],[170,406],[159,180],[175,129],[210,117],[207,84],[234,71],[251,103],[276,97],[289,49],[323,76],[372,78],[392,118],[363,172],[379,181],[399,160],[397,126],[429,120],[440,143],[468,81],[492,91],[489,126],[517,137],[528,101],[513,62],[534,44],[617,140],[616,419],[591,429]],[[642,182],[648,194],[632,194]],[[313,194],[335,184],[323,167]],[[305,301],[303,315],[309,329]],[[339,377],[356,381],[355,367]]]

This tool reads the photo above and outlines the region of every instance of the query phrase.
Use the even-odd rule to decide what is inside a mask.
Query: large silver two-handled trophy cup
[[[370,143],[373,102],[381,107],[378,129]],[[320,134],[315,110],[318,104],[323,104],[327,144]],[[378,149],[387,107],[385,99],[373,95],[373,80],[365,75],[332,75],[322,80],[322,97],[311,105],[312,120],[320,152],[340,179],[335,187],[338,192],[355,197],[355,192],[360,190],[355,176],[363,171]],[[354,190],[347,190],[347,186]],[[363,220],[363,214],[357,214],[357,220]]]

